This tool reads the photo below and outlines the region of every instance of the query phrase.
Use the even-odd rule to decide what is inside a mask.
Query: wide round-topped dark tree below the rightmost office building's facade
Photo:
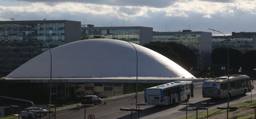
[[[228,49],[216,48],[211,54],[212,64],[228,64]],[[241,51],[229,48],[229,66],[243,67],[244,56]]]

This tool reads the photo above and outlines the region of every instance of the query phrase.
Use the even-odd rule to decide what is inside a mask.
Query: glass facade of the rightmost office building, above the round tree
[[[227,40],[228,38],[228,40]],[[212,50],[215,48],[225,47],[225,48],[232,48],[245,53],[247,51],[253,50],[253,38],[252,37],[236,37],[230,38],[223,38],[220,36],[213,36],[212,38]]]

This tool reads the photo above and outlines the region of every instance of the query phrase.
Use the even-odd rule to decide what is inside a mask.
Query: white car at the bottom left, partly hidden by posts
[[[22,117],[23,119],[26,118],[26,117],[32,117],[32,115],[34,115],[34,118],[37,118],[37,117],[40,116],[40,113],[37,113],[37,114],[35,114],[35,113],[28,113],[27,112],[28,110],[33,110],[33,107],[29,107],[29,108],[24,109],[22,112],[20,112],[19,116]],[[42,112],[44,112],[44,111],[47,111],[47,110],[42,109],[40,107],[35,107],[35,111],[42,111]],[[41,114],[41,116],[46,116],[46,115],[47,115],[47,113],[46,114]]]

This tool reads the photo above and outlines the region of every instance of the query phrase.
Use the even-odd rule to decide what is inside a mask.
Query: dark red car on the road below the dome
[[[97,96],[85,96],[81,100],[81,104],[93,104],[94,105],[95,103],[101,104],[102,101]]]

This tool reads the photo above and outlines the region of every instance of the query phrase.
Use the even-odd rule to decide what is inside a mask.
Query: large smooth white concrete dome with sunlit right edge
[[[194,77],[165,56],[132,44],[138,51],[138,77]],[[52,51],[52,78],[136,77],[136,50],[130,43],[114,39],[87,39],[65,44]],[[23,64],[6,78],[50,77],[50,52]]]

